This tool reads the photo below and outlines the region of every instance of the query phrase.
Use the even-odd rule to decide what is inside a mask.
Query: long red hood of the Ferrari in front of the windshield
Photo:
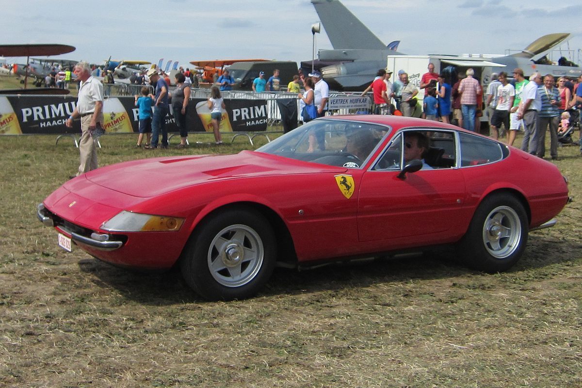
[[[110,190],[147,198],[214,180],[345,171],[346,168],[343,167],[297,161],[261,152],[242,151],[235,155],[140,159],[93,170],[86,173],[84,177],[91,183]]]

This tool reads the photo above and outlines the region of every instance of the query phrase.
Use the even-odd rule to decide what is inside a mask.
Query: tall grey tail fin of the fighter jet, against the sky
[[[385,49],[378,39],[339,0],[311,0],[335,49]]]

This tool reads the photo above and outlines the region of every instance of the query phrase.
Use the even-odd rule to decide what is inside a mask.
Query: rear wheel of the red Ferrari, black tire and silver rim
[[[528,225],[527,213],[514,195],[490,195],[457,244],[463,263],[488,273],[508,270],[526,249]]]

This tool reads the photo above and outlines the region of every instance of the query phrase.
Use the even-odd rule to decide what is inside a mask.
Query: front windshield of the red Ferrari
[[[318,119],[257,151],[329,166],[361,168],[389,131],[389,127],[378,124]]]

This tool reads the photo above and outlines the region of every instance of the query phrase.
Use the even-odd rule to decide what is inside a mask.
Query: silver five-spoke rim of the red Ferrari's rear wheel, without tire
[[[509,257],[520,246],[521,222],[508,206],[493,209],[483,225],[483,243],[489,254],[498,259]]]

